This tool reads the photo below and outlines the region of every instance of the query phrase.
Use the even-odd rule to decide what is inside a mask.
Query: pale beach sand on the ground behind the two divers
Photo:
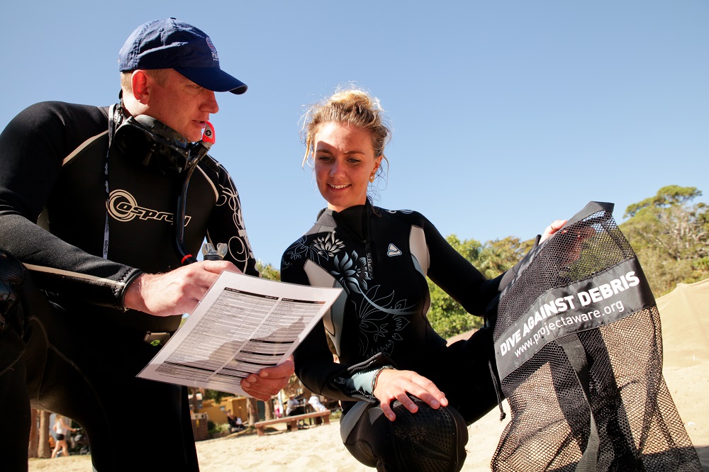
[[[709,363],[672,367],[666,363],[665,380],[684,422],[689,437],[709,472]],[[490,459],[509,420],[509,408],[504,403],[507,419],[501,422],[499,410],[493,410],[469,427],[467,459],[462,468],[467,472],[490,471]],[[350,456],[340,441],[340,423],[306,427],[285,432],[283,425],[267,431],[234,434],[230,437],[197,442],[202,472],[233,472],[252,470],[263,472],[371,472]],[[91,471],[88,456],[57,459],[30,459],[30,472]]]

